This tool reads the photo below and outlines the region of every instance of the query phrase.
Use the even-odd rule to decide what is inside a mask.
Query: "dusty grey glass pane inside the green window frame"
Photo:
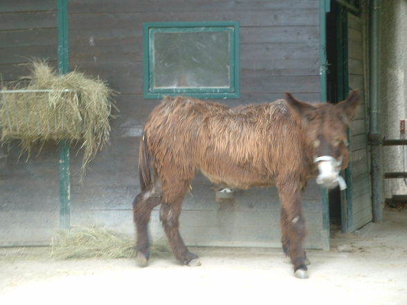
[[[227,88],[228,32],[154,33],[154,88]]]

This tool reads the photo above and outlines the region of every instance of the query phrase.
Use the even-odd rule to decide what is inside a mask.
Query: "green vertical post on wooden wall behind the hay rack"
[[[69,72],[68,0],[57,0],[58,68],[61,74]],[[58,147],[60,178],[60,228],[71,227],[71,172],[69,141],[61,140]]]

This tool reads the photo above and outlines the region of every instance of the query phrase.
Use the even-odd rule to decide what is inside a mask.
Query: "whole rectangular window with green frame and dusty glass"
[[[144,24],[144,97],[239,98],[239,24]]]

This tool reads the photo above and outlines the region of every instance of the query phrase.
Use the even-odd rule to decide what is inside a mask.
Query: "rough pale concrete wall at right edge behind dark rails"
[[[407,1],[383,1],[381,15],[381,100],[383,135],[400,137],[399,120],[407,118]],[[383,147],[384,171],[407,171],[407,147]],[[407,181],[386,179],[385,197],[407,194]]]

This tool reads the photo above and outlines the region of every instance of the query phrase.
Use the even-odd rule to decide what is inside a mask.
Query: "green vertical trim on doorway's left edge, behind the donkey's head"
[[[320,101],[327,101],[327,12],[329,1],[320,0],[319,8],[319,62],[320,62]],[[329,196],[326,189],[321,189],[321,209],[323,216],[323,249],[329,250]]]

